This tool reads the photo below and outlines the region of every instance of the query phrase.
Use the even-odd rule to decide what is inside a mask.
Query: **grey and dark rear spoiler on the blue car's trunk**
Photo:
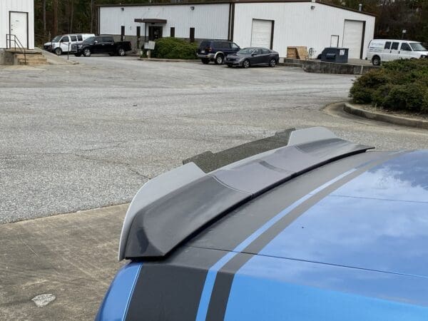
[[[372,148],[337,138],[321,127],[286,131],[272,136],[276,137],[273,141],[277,143],[280,136],[286,146],[222,164],[223,167],[209,173],[190,159],[185,165],[149,180],[126,213],[119,260],[161,258],[266,190],[326,163]],[[228,151],[234,153],[236,149]],[[227,158],[221,153],[203,153],[193,159],[206,164],[208,156]]]

